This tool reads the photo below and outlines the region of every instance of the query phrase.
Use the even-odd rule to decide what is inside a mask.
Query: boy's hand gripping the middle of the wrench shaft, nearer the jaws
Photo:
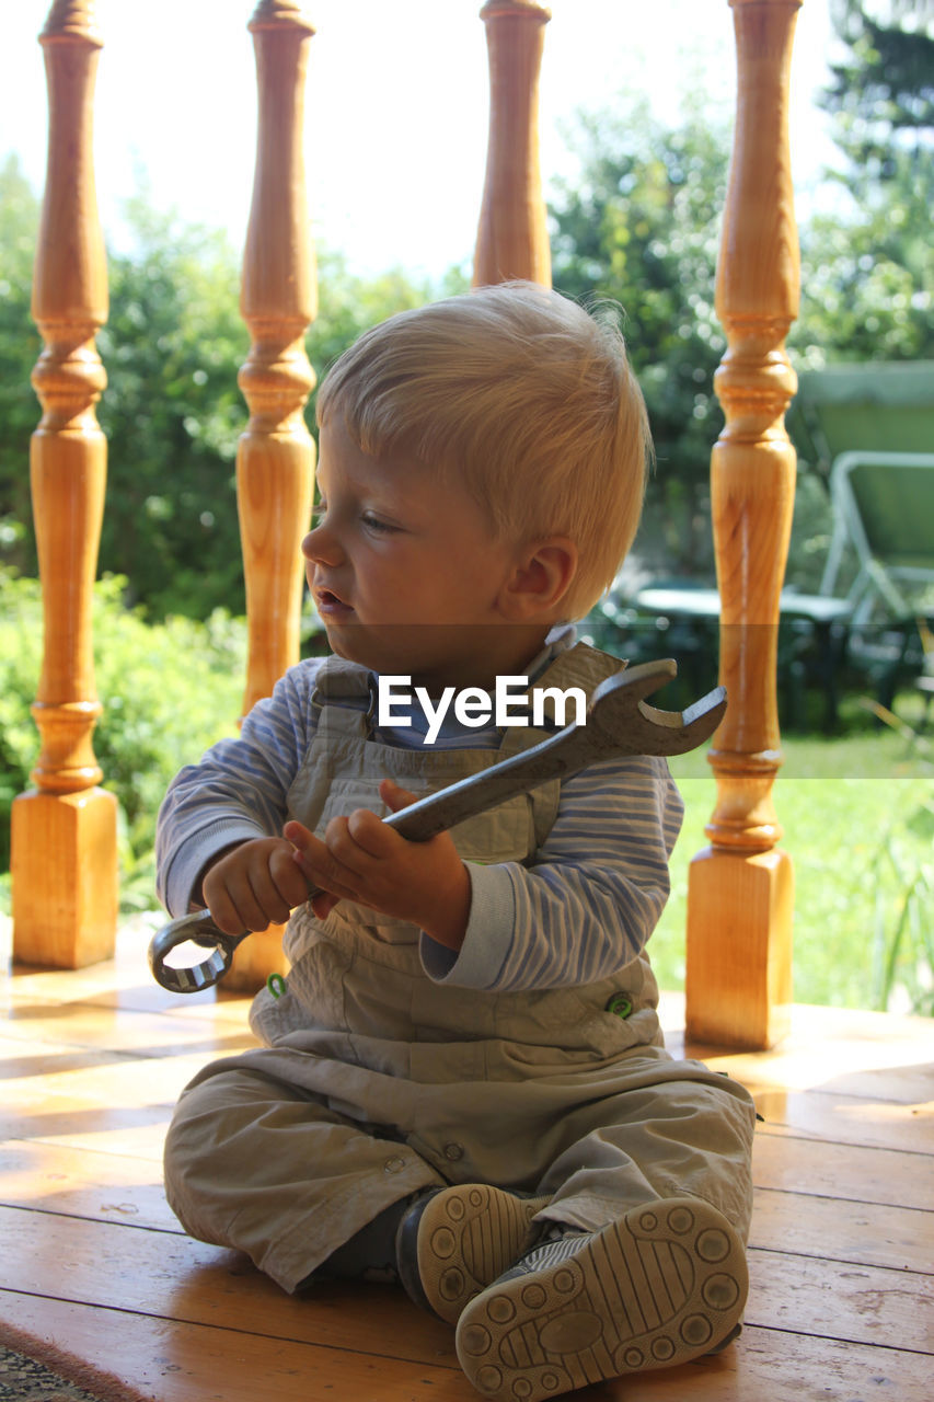
[[[415,795],[383,780],[380,798],[394,813]],[[400,837],[376,813],[358,808],[349,817],[332,817],[324,841],[302,823],[286,823],[282,836],[295,847],[295,859],[310,882],[314,914],[324,917],[341,897],[411,920],[449,949],[460,949],[470,916],[470,876],[449,833],[426,843]]]

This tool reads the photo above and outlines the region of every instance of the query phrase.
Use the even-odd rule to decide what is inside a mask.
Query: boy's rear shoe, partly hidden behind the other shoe
[[[485,1183],[418,1197],[395,1237],[398,1276],[422,1309],[457,1323],[464,1305],[516,1260],[548,1197],[522,1197]]]

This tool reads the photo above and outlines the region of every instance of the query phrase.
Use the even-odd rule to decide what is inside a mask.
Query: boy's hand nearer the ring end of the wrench
[[[224,852],[205,872],[205,904],[227,935],[283,925],[309,899],[309,883],[283,837],[257,837]]]

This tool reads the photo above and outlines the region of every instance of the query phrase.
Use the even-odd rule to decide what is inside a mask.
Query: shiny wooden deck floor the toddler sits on
[[[146,935],[3,993],[0,1318],[154,1402],[470,1402],[452,1332],[391,1287],[290,1300],[182,1235],[171,1105],[251,1043],[247,1000],[163,993]],[[680,1002],[663,1005],[679,1047]],[[766,1123],[746,1326],[717,1359],[576,1394],[625,1402],[934,1398],[934,1023],[797,1008],[776,1053],[718,1056]]]

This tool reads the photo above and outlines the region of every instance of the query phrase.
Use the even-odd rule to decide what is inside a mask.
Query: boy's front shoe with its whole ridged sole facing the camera
[[[529,1251],[464,1309],[457,1357],[484,1396],[539,1402],[715,1352],[746,1290],[735,1228],[701,1199],[668,1197]]]

